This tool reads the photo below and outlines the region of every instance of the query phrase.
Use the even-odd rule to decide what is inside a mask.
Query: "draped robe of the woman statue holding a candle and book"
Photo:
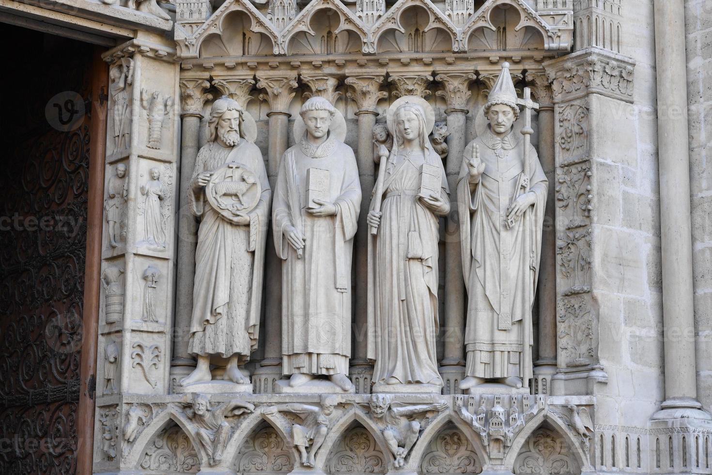
[[[439,216],[420,201],[420,168],[440,167],[440,197],[449,202],[442,160],[424,152],[391,152],[385,169],[378,233],[370,239],[368,357],[373,381],[442,385],[438,372]],[[372,201],[374,203],[375,201]]]

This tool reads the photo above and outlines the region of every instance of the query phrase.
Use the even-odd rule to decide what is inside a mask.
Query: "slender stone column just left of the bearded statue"
[[[195,277],[195,246],[198,222],[188,209],[187,189],[198,155],[200,120],[203,105],[212,95],[205,91],[210,83],[205,78],[183,79],[181,91],[181,174],[178,187],[178,254],[176,313],[173,320],[173,360],[171,361],[171,387],[177,380],[188,375],[195,367],[195,360],[188,354],[190,319],[193,313],[193,281]]]

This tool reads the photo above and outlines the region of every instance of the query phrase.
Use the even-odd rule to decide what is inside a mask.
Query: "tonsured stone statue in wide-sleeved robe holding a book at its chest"
[[[330,133],[335,113],[321,97],[302,106],[306,131],[282,158],[273,236],[283,259],[283,374],[290,387],[326,375],[350,391],[351,256],[361,187],[353,150]]]

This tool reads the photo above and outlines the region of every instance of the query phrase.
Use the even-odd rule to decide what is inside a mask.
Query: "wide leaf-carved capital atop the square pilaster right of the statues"
[[[553,102],[596,93],[633,102],[635,61],[600,48],[586,48],[544,64],[552,82]]]

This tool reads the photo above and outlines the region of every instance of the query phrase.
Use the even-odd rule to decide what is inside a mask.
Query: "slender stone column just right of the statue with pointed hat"
[[[539,103],[537,152],[544,173],[549,179],[546,199],[541,259],[539,263],[538,301],[538,358],[534,362],[535,394],[549,394],[551,376],[556,372],[556,233],[555,219],[555,160],[554,160],[554,105],[551,85],[546,73],[530,72],[526,80]]]

